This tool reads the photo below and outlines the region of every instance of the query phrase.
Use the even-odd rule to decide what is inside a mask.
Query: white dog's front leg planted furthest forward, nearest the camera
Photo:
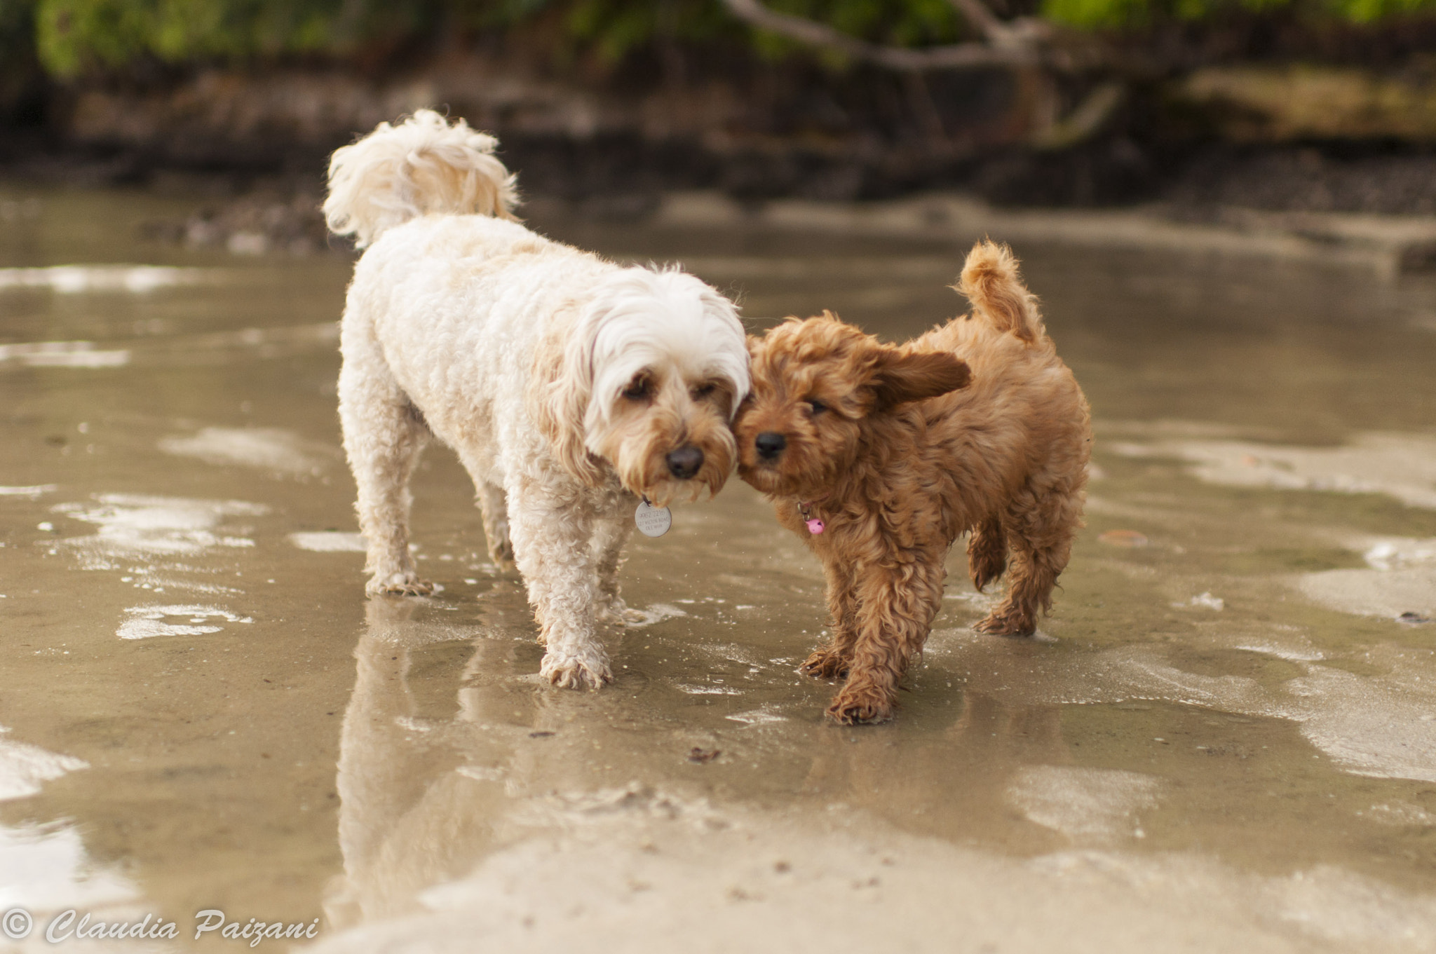
[[[597,689],[613,679],[595,615],[597,577],[590,555],[593,515],[534,482],[508,491],[510,534],[528,603],[547,644],[538,673],[554,686]]]

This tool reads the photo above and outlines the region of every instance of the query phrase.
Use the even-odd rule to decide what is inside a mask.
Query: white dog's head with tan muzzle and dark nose
[[[681,271],[612,273],[534,356],[533,412],[559,461],[590,485],[600,462],[663,506],[722,488],[737,462],[728,429],[748,393],[732,303]]]

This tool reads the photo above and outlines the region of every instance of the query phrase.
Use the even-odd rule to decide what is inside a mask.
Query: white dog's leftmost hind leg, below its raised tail
[[[366,592],[422,595],[409,554],[409,475],[428,443],[429,429],[382,363],[345,351],[339,374],[339,419],[345,453],[359,486],[359,529],[369,542]]]

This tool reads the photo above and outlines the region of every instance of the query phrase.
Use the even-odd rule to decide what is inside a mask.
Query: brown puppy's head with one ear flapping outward
[[[968,366],[946,351],[882,344],[831,311],[750,337],[752,392],[738,409],[738,475],[764,493],[813,495],[880,438],[898,405],[958,390]]]

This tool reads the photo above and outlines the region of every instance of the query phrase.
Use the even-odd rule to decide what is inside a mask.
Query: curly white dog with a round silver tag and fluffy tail
[[[368,247],[345,306],[339,413],[369,592],[424,594],[409,475],[429,435],[474,478],[490,555],[528,587],[559,686],[612,679],[597,621],[638,498],[696,499],[737,461],[748,393],[734,306],[681,271],[625,268],[513,217],[493,136],[431,110],[335,152],[325,215]]]

